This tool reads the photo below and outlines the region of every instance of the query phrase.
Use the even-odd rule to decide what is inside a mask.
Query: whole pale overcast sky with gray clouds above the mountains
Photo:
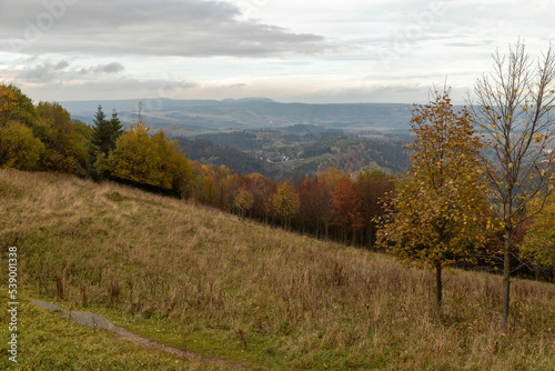
[[[0,81],[33,100],[461,100],[552,0],[0,0]]]

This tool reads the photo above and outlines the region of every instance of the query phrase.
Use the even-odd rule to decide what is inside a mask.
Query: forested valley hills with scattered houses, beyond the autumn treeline
[[[329,168],[347,173],[380,169],[406,171],[410,136],[366,138],[341,130],[295,126],[272,130],[211,133],[175,140],[192,160],[248,174],[262,173],[274,180],[315,177]]]

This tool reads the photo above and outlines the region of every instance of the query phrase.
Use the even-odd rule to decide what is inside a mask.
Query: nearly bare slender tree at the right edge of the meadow
[[[476,81],[471,106],[488,149],[482,154],[484,191],[504,232],[501,328],[506,331],[516,228],[539,212],[554,190],[555,51],[549,44],[534,60],[518,40],[508,56],[496,51],[493,60],[495,71]],[[535,210],[533,199],[542,200]]]

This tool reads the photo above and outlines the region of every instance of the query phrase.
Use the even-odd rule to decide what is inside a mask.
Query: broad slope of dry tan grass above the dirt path
[[[7,247],[18,245],[24,295],[103,314],[206,357],[287,370],[552,370],[555,363],[553,284],[514,282],[514,328],[503,335],[497,277],[446,274],[445,313],[436,319],[431,273],[184,201],[0,170],[0,202],[2,268]],[[32,323],[54,315],[27,308]],[[68,342],[72,332],[64,332]],[[92,369],[99,360],[84,362]]]

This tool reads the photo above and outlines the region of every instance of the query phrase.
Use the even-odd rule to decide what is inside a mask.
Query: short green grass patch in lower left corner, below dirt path
[[[8,301],[7,287],[0,290],[2,302]],[[6,355],[8,312],[0,313],[0,370],[233,370],[148,350],[105,330],[74,324],[59,313],[34,307],[26,295],[20,298],[19,317],[16,364]]]

